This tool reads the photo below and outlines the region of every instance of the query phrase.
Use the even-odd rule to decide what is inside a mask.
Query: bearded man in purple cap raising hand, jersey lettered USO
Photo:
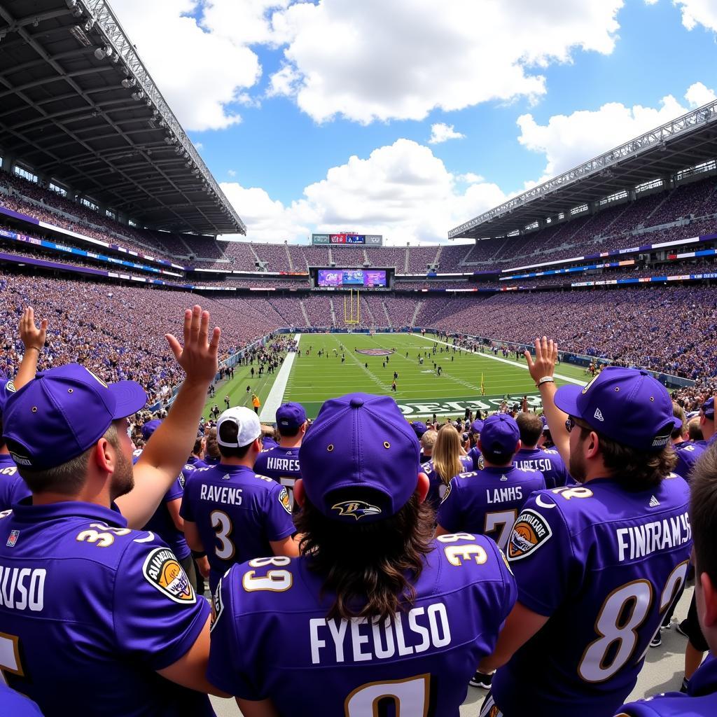
[[[6,403],[3,435],[32,500],[0,516],[0,671],[45,717],[214,715],[200,694],[214,690],[209,607],[166,544],[129,527],[191,450],[217,372],[208,329],[195,306],[184,349],[167,337],[186,379],[134,470],[127,417],[146,403],[134,381],[108,386],[69,364]]]

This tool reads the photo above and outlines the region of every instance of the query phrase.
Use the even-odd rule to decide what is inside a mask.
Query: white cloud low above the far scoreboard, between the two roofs
[[[478,175],[465,190],[427,146],[399,139],[369,157],[352,156],[307,186],[290,206],[263,189],[222,184],[247,223],[250,239],[300,239],[310,232],[355,227],[390,244],[445,242],[450,227],[500,204],[505,194]]]

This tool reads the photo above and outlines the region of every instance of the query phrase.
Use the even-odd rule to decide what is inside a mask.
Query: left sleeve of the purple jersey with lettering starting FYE
[[[257,670],[257,625],[240,614],[239,594],[246,566],[234,565],[219,581],[212,602],[211,647],[206,678],[220,690],[245,700],[262,700]],[[227,613],[227,614],[224,614]]]

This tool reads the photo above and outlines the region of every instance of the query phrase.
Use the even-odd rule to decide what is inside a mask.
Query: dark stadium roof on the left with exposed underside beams
[[[246,234],[106,0],[0,1],[0,98],[4,156],[150,227]]]

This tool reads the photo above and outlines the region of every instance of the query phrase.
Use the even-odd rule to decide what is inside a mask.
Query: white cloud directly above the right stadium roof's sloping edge
[[[598,110],[553,115],[545,125],[538,124],[531,114],[521,115],[518,118],[521,129],[518,141],[527,149],[546,156],[543,176],[538,181],[526,183],[526,188],[683,115],[708,96],[714,96],[713,90],[695,82],[685,93],[687,107],[672,95],[667,95],[660,100],[657,108],[642,105],[626,107],[611,102]]]

